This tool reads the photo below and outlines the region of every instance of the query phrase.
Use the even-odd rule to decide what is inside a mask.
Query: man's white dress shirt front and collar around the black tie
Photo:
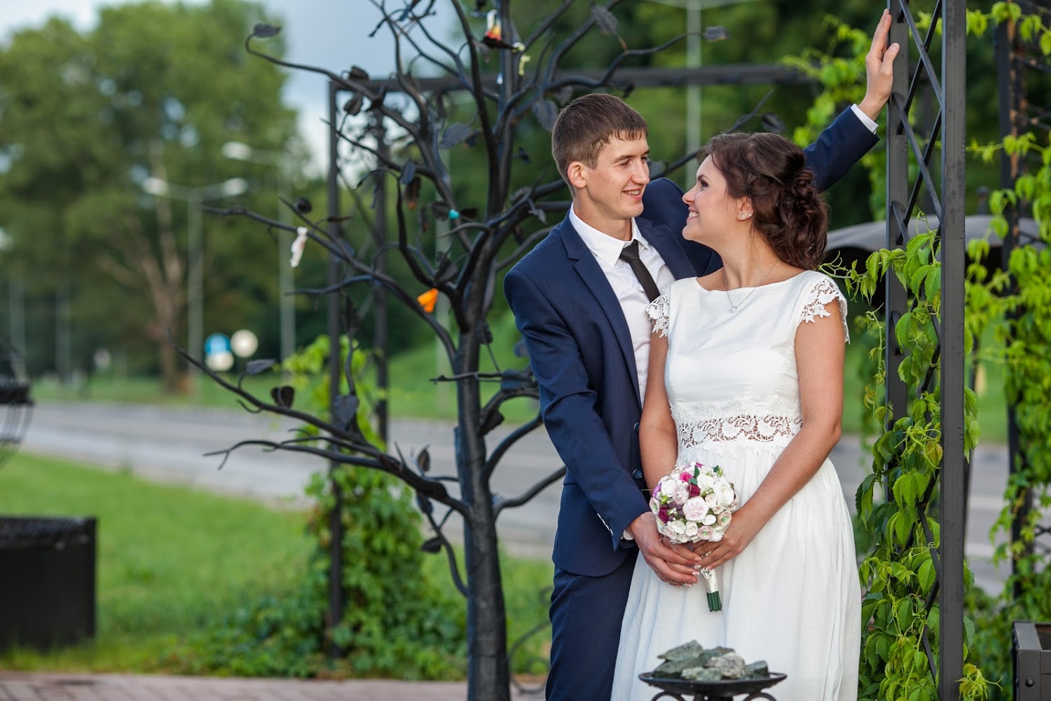
[[[573,207],[570,207],[570,222],[580,234],[584,245],[588,246],[588,250],[598,261],[599,267],[605,273],[605,279],[610,281],[613,293],[620,301],[620,309],[624,312],[624,321],[627,322],[627,330],[632,334],[632,348],[635,350],[635,369],[639,374],[639,399],[643,399],[646,392],[650,335],[653,333],[653,325],[646,314],[650,300],[642,289],[642,284],[632,271],[632,266],[620,260],[620,251],[632,242],[615,239],[585,224],[577,217]],[[663,290],[675,282],[675,275],[667,269],[664,259],[639,234],[639,226],[634,219],[632,220],[632,241],[639,242],[639,259],[646,266],[654,282],[657,283],[657,289]]]

